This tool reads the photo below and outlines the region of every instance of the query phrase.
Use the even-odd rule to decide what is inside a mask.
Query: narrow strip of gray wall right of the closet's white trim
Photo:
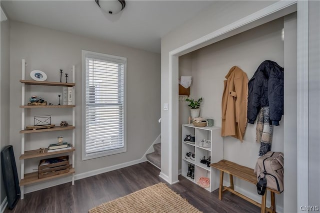
[[[309,1],[309,206],[320,206],[320,1]]]

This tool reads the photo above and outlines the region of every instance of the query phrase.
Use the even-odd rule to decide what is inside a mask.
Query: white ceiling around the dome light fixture
[[[103,12],[94,0],[1,0],[10,20],[107,39],[160,52],[160,38],[213,1],[126,0],[117,14]]]

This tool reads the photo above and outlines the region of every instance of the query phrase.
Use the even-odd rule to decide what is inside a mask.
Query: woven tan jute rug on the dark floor
[[[186,199],[159,183],[101,204],[89,213],[201,213]]]

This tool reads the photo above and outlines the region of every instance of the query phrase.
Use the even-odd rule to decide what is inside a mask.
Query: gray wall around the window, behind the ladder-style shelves
[[[81,50],[89,50],[127,58],[127,152],[91,160],[81,160]],[[152,142],[160,134],[160,55],[135,48],[96,40],[76,34],[65,33],[38,27],[26,23],[11,22],[10,29],[10,144],[14,146],[14,154],[20,174],[20,135],[21,113],[21,59],[26,60],[26,79],[30,79],[31,70],[39,69],[47,74],[48,81],[59,81],[59,69],[70,73],[75,65],[75,173],[90,173],[105,167],[139,160]],[[71,79],[71,78],[69,78]],[[30,88],[30,86],[29,86]],[[30,88],[28,95],[43,95],[43,98],[57,104],[60,88]],[[41,93],[43,91],[43,93]],[[48,95],[49,94],[49,95]],[[26,97],[29,97],[26,96]],[[49,112],[52,123],[64,120],[59,114],[70,114],[68,109],[54,109]],[[32,122],[33,115],[44,115],[47,110],[27,109],[27,122]],[[54,120],[55,119],[55,120]],[[66,117],[66,120],[70,117]],[[28,124],[28,123],[26,123]],[[57,135],[70,140],[70,131],[26,134],[26,149],[37,149],[56,141]],[[32,143],[30,143],[32,141]],[[25,161],[25,172],[36,168],[39,159]],[[50,183],[39,185],[46,187]],[[34,190],[35,188],[32,188]],[[28,187],[25,188],[28,191]]]

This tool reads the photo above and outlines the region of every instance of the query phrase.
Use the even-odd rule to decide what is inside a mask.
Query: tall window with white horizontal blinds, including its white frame
[[[126,58],[82,50],[82,160],[126,151]]]

